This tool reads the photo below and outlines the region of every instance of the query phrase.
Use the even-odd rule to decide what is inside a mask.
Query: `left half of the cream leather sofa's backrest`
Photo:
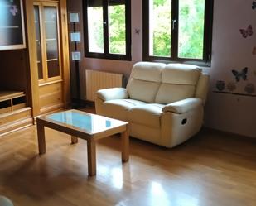
[[[162,69],[165,64],[138,62],[128,80],[127,90],[130,98],[147,103],[154,103],[162,82]]]

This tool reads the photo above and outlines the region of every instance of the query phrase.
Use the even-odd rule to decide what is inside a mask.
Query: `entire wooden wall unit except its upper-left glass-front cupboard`
[[[16,2],[23,2],[26,11],[27,48],[0,51],[0,136],[31,125],[42,113],[70,105],[66,1],[10,3]]]

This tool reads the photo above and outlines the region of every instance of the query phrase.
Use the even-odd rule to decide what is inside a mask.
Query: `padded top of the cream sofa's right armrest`
[[[168,103],[164,108],[162,108],[162,112],[187,113],[202,105],[203,101],[200,98],[185,98],[181,101]]]

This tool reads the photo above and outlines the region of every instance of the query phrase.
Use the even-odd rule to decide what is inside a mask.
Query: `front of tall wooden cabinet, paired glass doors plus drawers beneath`
[[[40,112],[63,108],[58,3],[34,2]]]

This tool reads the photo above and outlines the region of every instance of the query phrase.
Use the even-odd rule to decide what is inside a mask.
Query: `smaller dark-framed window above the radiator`
[[[130,0],[84,1],[85,56],[131,60]]]

